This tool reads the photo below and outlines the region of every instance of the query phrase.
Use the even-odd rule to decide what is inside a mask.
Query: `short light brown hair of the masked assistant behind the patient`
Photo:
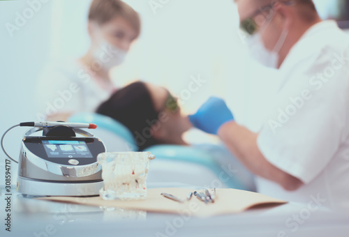
[[[121,0],[94,0],[89,8],[89,20],[105,24],[114,17],[122,17],[140,35],[140,16],[127,3]]]

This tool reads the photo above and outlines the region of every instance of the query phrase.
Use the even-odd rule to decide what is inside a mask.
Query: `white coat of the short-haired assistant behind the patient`
[[[77,60],[49,63],[36,87],[37,119],[56,113],[95,112],[116,87],[105,83]]]

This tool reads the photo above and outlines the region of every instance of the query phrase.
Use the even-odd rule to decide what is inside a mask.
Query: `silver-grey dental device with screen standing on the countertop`
[[[80,128],[56,123],[53,127],[32,128],[24,135],[18,160],[18,192],[70,197],[99,194],[103,180],[97,155],[106,151],[105,145]],[[41,130],[42,136],[33,135]]]

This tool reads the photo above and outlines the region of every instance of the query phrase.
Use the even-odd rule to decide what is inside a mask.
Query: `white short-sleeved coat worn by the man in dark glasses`
[[[288,192],[257,178],[258,191],[288,201],[349,208],[349,39],[334,21],[315,24],[292,47],[281,87],[258,136],[265,158],[299,178]],[[313,201],[313,203],[315,203]]]

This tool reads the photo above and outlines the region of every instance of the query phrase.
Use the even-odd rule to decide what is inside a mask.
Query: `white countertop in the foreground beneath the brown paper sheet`
[[[150,183],[149,188],[185,187]],[[3,224],[6,195],[1,187],[0,236],[348,236],[349,213],[285,204],[210,218],[61,204],[22,197],[12,188],[11,232]],[[304,211],[305,210],[305,211]],[[308,213],[309,215],[305,215]]]

